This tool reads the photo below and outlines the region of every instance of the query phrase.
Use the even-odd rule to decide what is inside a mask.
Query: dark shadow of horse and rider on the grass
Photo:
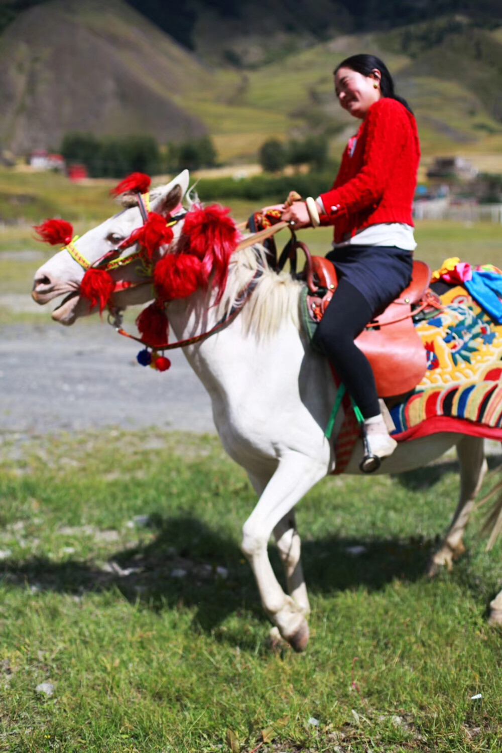
[[[105,568],[68,559],[53,562],[44,557],[0,566],[0,578],[11,587],[68,593],[79,599],[85,593],[117,590],[129,602],[141,602],[154,611],[185,605],[195,608],[194,630],[213,633],[232,614],[251,614],[266,620],[248,562],[236,541],[193,517],[162,517],[149,522],[154,538],[134,549],[117,550]],[[436,546],[431,539],[346,538],[328,534],[304,541],[303,569],[311,593],[381,590],[399,578],[413,582],[427,572]],[[275,547],[269,547],[275,573],[284,587],[282,567]],[[228,635],[222,639],[237,642]],[[225,636],[225,637],[223,637]],[[239,636],[242,647],[242,635]]]

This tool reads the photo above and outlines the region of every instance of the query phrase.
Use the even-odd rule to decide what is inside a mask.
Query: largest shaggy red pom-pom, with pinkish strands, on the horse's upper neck
[[[239,242],[239,230],[232,218],[230,209],[219,204],[196,206],[187,213],[183,234],[187,239],[189,253],[202,262],[202,275],[207,284],[214,274],[213,285],[218,288],[218,298],[227,282],[230,257]]]

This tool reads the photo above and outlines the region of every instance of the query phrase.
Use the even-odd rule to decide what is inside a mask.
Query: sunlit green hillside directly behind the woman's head
[[[219,69],[211,93],[179,102],[208,123],[224,159],[252,157],[271,136],[308,133],[326,134],[338,155],[357,123],[336,102],[333,68],[361,51],[388,63],[415,111],[426,156],[500,151],[502,33],[449,17],[338,35],[253,70]]]

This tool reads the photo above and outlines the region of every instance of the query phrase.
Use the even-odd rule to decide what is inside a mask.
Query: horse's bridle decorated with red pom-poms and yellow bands
[[[81,281],[79,294],[90,301],[90,306],[99,306],[101,312],[105,308],[108,309],[108,322],[114,326],[118,334],[145,346],[138,353],[138,363],[165,371],[169,369],[171,362],[163,355],[163,351],[199,343],[234,319],[256,287],[262,272],[258,270],[255,273],[254,278],[241,291],[230,311],[213,328],[194,337],[169,343],[169,322],[165,311],[169,301],[176,297],[186,297],[199,288],[199,283],[202,286],[209,285],[210,276],[213,276],[212,284],[220,288],[217,294],[218,301],[223,292],[222,283],[227,279],[230,256],[239,244],[239,231],[233,221],[227,217],[229,210],[219,206],[209,206],[205,209],[197,206],[190,212],[178,212],[176,215],[168,215],[167,218],[157,215],[151,211],[150,184],[151,178],[148,175],[132,173],[111,191],[114,196],[134,194],[143,223],[133,230],[129,238],[117,245],[117,248],[112,248],[94,262],[90,262],[76,248],[75,242],[79,236],[74,236],[70,223],[63,220],[47,220],[35,226],[35,230],[41,240],[51,245],[61,244],[62,250],[67,251],[71,258],[82,267],[84,278]],[[163,255],[159,261],[155,262],[154,253],[162,245],[169,245],[172,241],[172,227],[187,218],[189,221],[186,222],[186,227],[190,225],[190,228],[188,236],[184,237],[182,252]],[[207,241],[204,239],[204,231],[208,233]],[[214,242],[216,252],[210,251],[211,242]],[[138,250],[122,256],[123,251],[131,245],[138,245]],[[114,282],[109,273],[135,261],[141,261],[140,273],[145,275],[145,282]],[[183,270],[189,273],[187,274],[189,281],[186,283],[181,282]],[[152,285],[152,283],[157,297],[154,303],[143,309],[136,319],[136,325],[141,334],[141,337],[136,337],[123,329],[122,309],[112,306],[111,297],[116,292],[141,285]],[[195,285],[195,287],[190,288],[190,285]]]

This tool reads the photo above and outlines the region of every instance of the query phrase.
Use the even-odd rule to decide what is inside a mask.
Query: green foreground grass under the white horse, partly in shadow
[[[0,750],[230,750],[227,730],[242,751],[263,733],[265,750],[500,750],[501,635],[485,623],[500,547],[486,555],[474,526],[452,575],[424,574],[455,506],[452,464],[307,495],[298,656],[270,645],[239,552],[254,493],[214,437],[13,438],[2,458]]]

